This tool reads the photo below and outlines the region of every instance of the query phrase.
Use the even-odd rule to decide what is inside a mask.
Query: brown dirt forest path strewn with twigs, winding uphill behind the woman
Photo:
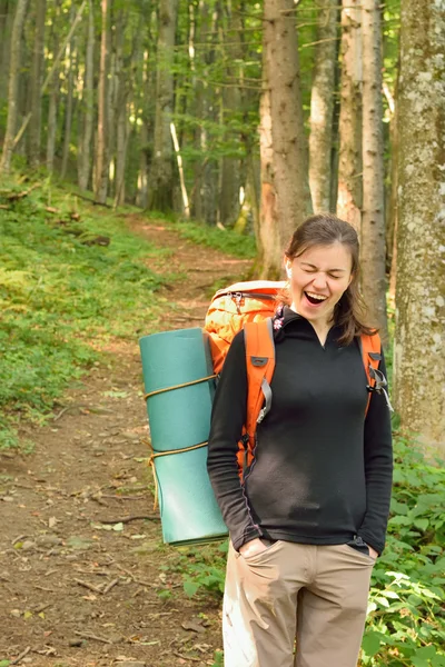
[[[187,276],[162,288],[160,330],[200,326],[215,280],[249,268],[161,222],[127,221],[171,249],[154,270]],[[47,426],[23,429],[32,452],[0,454],[0,667],[201,667],[221,645],[219,605],[184,595],[159,519],[137,518],[157,515],[137,335],[110,352]]]

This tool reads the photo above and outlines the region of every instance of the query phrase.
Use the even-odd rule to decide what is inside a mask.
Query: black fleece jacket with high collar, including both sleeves
[[[271,409],[257,428],[241,485],[236,454],[245,421],[244,332],[234,339],[215,396],[208,472],[235,549],[256,537],[313,545],[355,536],[382,552],[393,452],[383,395],[368,397],[358,340],[325,346],[308,320],[285,309],[275,335]],[[379,369],[386,375],[385,361]]]

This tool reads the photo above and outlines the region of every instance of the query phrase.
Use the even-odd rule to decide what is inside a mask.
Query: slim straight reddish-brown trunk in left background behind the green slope
[[[108,62],[110,0],[101,0],[101,9],[102,36],[100,42],[95,199],[99,203],[106,203],[108,192]]]

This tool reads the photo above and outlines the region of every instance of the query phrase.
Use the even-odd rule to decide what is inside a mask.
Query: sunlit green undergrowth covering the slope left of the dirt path
[[[28,192],[26,196],[21,196]],[[48,185],[0,190],[0,448],[20,418],[44,421],[69,380],[111,339],[149,332],[162,278],[147,259],[165,252],[131,235],[121,215]]]

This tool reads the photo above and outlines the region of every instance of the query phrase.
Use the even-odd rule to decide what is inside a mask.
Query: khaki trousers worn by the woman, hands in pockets
[[[230,544],[225,667],[356,667],[373,564],[348,545],[278,540],[245,558]]]

